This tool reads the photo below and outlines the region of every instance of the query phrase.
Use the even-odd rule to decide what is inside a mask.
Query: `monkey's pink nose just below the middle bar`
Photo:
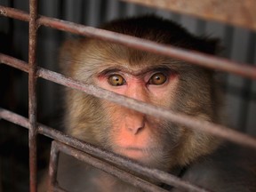
[[[145,115],[136,111],[132,111],[125,116],[125,127],[128,132],[138,134],[145,128]]]

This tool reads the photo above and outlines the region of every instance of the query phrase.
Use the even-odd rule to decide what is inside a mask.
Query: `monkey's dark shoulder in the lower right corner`
[[[182,179],[211,191],[256,191],[255,159],[255,153],[249,148],[223,146],[188,166]]]

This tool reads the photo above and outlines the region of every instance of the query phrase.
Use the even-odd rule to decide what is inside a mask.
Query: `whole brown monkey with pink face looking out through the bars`
[[[101,28],[196,52],[216,54],[218,51],[217,40],[194,36],[171,20],[155,15],[113,20]],[[221,92],[215,72],[211,69],[90,37],[68,40],[63,44],[60,68],[64,75],[84,84],[93,84],[134,100],[212,123],[222,122]],[[222,162],[221,156],[225,156],[225,152],[221,151],[225,151],[226,147],[222,140],[211,134],[148,116],[73,89],[67,89],[65,101],[66,132],[79,140],[151,168],[178,172],[181,178],[213,191],[236,191],[241,187],[237,185],[242,181],[233,178],[234,172],[226,174],[226,179],[231,177],[234,182],[234,188],[231,182],[221,180],[224,163],[231,164],[231,153],[228,152],[229,160]],[[143,191],[75,161],[70,156],[60,155],[58,180],[60,186],[69,191]],[[214,161],[219,165],[214,166]],[[82,167],[85,167],[84,172],[81,171]],[[255,191],[254,168],[253,172],[246,170],[253,175],[251,179],[248,176],[247,183],[252,188],[247,188],[245,182],[239,191]],[[217,177],[215,171],[223,172]],[[217,181],[205,172],[213,172]],[[72,179],[74,175],[76,177]],[[228,188],[225,187],[227,183]],[[179,188],[169,190],[181,191]]]

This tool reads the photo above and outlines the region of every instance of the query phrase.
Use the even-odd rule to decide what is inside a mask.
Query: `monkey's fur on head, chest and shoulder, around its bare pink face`
[[[192,36],[177,24],[155,16],[116,20],[103,28],[201,52],[213,54],[216,50],[216,42]],[[214,73],[206,68],[90,38],[68,41],[60,52],[60,66],[64,74],[85,84],[102,85],[97,80],[98,74],[113,65],[137,75],[145,68],[154,66],[170,68],[178,77],[172,86],[167,87],[164,98],[161,98],[163,100],[146,98],[144,101],[149,100],[153,105],[220,123],[220,92]],[[141,94],[143,98],[143,92]],[[153,116],[144,116],[83,92],[67,89],[65,99],[66,131],[76,138],[114,151],[116,135],[123,132],[119,124],[127,116],[133,121],[143,116],[149,126],[140,134],[148,133],[151,141],[148,145],[156,146],[157,150],[150,150],[148,159],[151,160],[140,159],[140,164],[172,173],[177,173],[177,167],[179,173],[179,168],[187,166],[187,171],[182,172],[180,177],[211,191],[256,191],[254,151],[235,145],[221,145],[218,148],[220,140],[204,132],[196,132]],[[121,118],[114,117],[120,114]],[[46,181],[47,177],[41,182],[40,192],[46,191]],[[141,192],[140,188],[132,187],[65,154],[60,154],[58,181],[60,187],[72,192]],[[180,188],[169,190],[183,191]]]

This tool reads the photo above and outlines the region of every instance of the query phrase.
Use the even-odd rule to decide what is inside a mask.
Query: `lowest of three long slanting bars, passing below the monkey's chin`
[[[28,128],[28,118],[15,114],[12,111],[6,110],[4,108],[0,108],[0,119],[1,118],[14,124],[18,124],[20,126]],[[202,190],[205,191],[204,189],[196,187],[188,181],[180,180],[180,178],[170,173],[162,172],[160,170],[151,169],[146,166],[133,163],[132,161],[129,161],[122,156],[117,156],[112,152],[97,148],[95,146],[92,146],[92,144],[86,143],[82,140],[77,140],[76,138],[70,137],[63,132],[52,129],[49,126],[45,126],[44,124],[38,124],[38,133],[44,134],[44,136],[52,138],[53,140],[59,140],[60,142],[65,143],[68,146],[72,146],[74,148],[82,150],[85,153],[91,154],[92,156],[106,159],[110,163],[121,165],[126,169],[130,169],[132,172],[138,172],[142,175],[146,175],[148,178],[151,178],[153,180],[174,186],[175,188],[182,188],[185,190],[198,192],[202,192]]]

